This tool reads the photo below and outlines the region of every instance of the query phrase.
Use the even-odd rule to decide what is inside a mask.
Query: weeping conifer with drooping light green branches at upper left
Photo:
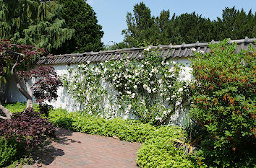
[[[59,48],[74,34],[59,19],[59,11],[61,5],[56,1],[0,0],[0,39],[49,51]]]

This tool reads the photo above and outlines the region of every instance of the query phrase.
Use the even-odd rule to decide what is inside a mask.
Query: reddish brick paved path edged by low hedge
[[[24,167],[137,167],[140,143],[87,135],[59,128],[58,141],[33,154],[35,164]]]

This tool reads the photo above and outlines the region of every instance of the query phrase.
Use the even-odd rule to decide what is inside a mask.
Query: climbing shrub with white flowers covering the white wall
[[[181,70],[161,57],[161,50],[147,48],[140,59],[124,57],[69,68],[63,83],[89,113],[133,114],[145,123],[161,125],[187,96],[186,84],[179,80]]]

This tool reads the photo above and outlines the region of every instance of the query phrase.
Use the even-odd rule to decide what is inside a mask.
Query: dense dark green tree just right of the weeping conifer
[[[74,36],[67,40],[54,53],[83,53],[101,50],[103,31],[98,25],[92,7],[84,0],[58,0],[64,6],[60,15],[65,19],[68,29],[74,29]]]

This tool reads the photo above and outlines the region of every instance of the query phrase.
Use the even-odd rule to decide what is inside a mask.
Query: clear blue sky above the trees
[[[87,3],[93,7],[98,18],[98,24],[103,27],[104,45],[113,45],[124,39],[121,31],[127,29],[127,12],[132,12],[133,6],[142,0],[87,0]],[[202,17],[216,19],[221,17],[222,10],[225,7],[236,6],[236,9],[244,9],[245,12],[255,13],[256,0],[144,0],[146,6],[151,10],[153,16],[159,16],[160,12],[170,10],[171,16],[184,13],[196,12],[202,14]]]

